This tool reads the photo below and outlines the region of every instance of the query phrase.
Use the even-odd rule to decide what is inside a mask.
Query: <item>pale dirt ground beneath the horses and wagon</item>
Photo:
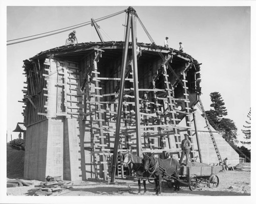
[[[250,171],[226,171],[218,174],[220,183],[217,188],[208,188],[203,184],[195,191],[190,191],[188,187],[181,187],[180,191],[174,191],[162,184],[161,196],[248,196],[251,195]],[[7,179],[10,180],[10,179]],[[40,181],[28,181],[33,183],[31,186],[22,186],[7,188],[8,196],[33,196],[40,188]],[[68,181],[64,181],[68,182]],[[142,185],[143,188],[143,185]],[[154,185],[147,182],[147,193],[138,194],[137,181],[116,180],[115,184],[99,183],[99,182],[73,182],[73,186],[69,189],[62,189],[61,192],[53,193],[50,196],[156,196]],[[40,197],[40,196],[39,196]],[[49,197],[49,196],[48,196]]]

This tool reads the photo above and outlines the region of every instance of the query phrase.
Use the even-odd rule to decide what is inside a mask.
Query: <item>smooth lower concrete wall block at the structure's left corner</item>
[[[27,127],[25,179],[45,181],[50,175],[82,180],[80,122],[47,119]]]

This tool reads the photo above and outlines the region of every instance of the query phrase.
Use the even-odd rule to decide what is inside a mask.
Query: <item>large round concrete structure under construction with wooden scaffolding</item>
[[[228,157],[231,166],[239,164],[207,120],[200,100],[203,65],[180,50],[137,42],[135,18],[142,22],[132,7],[124,12],[125,41],[104,41],[92,18],[99,42],[24,60],[24,179],[125,179],[127,149],[179,160],[184,134],[191,159],[216,165]]]

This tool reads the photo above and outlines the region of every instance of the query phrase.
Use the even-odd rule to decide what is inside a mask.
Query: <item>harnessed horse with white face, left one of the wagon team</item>
[[[136,176],[146,177],[144,172],[144,165],[142,163],[142,158],[132,154],[132,149],[129,151],[127,149],[126,153],[123,155],[123,167],[128,167],[131,164],[131,170],[134,170]],[[149,174],[148,174],[149,175]],[[140,179],[138,179],[139,192],[141,191]],[[143,179],[144,193],[146,193],[146,180]]]

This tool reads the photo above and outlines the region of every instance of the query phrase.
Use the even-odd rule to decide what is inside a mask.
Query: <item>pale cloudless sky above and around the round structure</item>
[[[42,2],[42,1],[40,1]],[[6,131],[12,139],[17,122],[23,122],[22,100],[24,82],[23,60],[41,51],[62,46],[66,31],[23,43],[8,45],[7,40],[23,38],[66,28],[91,18],[97,19],[133,6],[148,33],[157,45],[169,37],[169,46],[179,48],[202,63],[201,100],[205,110],[210,109],[211,92],[219,92],[228,115],[238,128],[238,139],[244,140],[243,125],[248,121],[254,78],[255,59],[255,3],[253,1],[44,1],[40,5],[31,1],[1,1],[1,141],[6,141]],[[63,5],[65,4],[65,5]],[[49,7],[51,6],[51,7]],[[61,7],[60,7],[61,6]],[[254,17],[254,18],[253,18]],[[251,21],[252,20],[252,21]],[[105,41],[123,41],[125,13],[98,22]],[[76,29],[78,42],[100,41],[91,25]],[[251,33],[253,32],[253,33]],[[105,35],[104,35],[105,34]],[[254,35],[253,35],[254,34]],[[138,42],[150,39],[137,22]],[[255,56],[255,55],[254,55]],[[253,110],[252,110],[253,115]],[[253,118],[253,117],[252,117]],[[252,131],[253,131],[252,127]],[[10,137],[7,138],[10,141]],[[4,174],[6,175],[6,174]]]

